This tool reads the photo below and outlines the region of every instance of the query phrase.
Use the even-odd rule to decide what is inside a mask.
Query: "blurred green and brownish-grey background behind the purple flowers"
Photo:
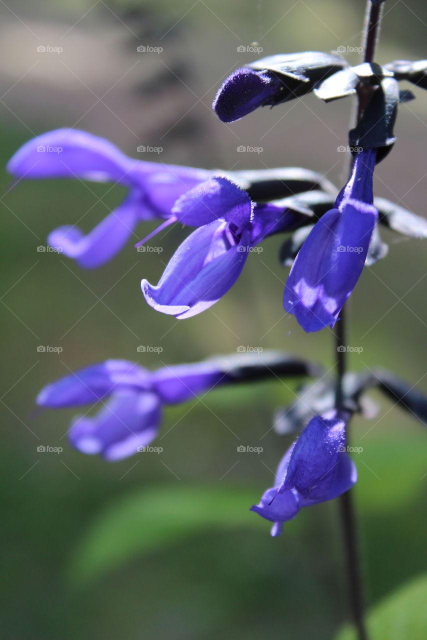
[[[210,106],[223,79],[256,57],[346,47],[356,63],[363,13],[364,2],[349,0],[2,2],[1,164],[29,138],[74,127],[142,160],[226,170],[304,166],[339,186],[347,159],[337,147],[347,144],[350,100],[326,105],[309,95],[231,125]],[[425,3],[389,0],[385,13],[378,62],[424,58]],[[263,51],[242,51],[253,43]],[[375,192],[423,216],[427,95],[414,92],[400,108],[398,141],[378,167]],[[141,145],[162,151],[138,152]],[[262,152],[242,153],[240,145]],[[168,409],[155,443],[161,454],[114,464],[69,447],[75,412],[35,411],[47,382],[106,358],[156,368],[251,346],[329,369],[331,333],[305,335],[283,312],[281,239],[250,256],[212,310],[178,322],[147,307],[139,283],[157,282],[185,230],[169,232],[160,255],[130,243],[103,268],[83,271],[37,247],[53,228],[82,217],[79,226],[90,230],[124,189],[78,180],[11,188],[6,172],[2,182],[3,637],[332,637],[346,618],[337,505],[305,509],[278,540],[249,513],[289,446],[271,429],[272,414],[292,401],[297,381],[217,390]],[[141,225],[138,234],[149,230]],[[391,232],[383,239],[389,256],[365,269],[351,296],[349,344],[363,350],[349,362],[355,371],[382,365],[425,391],[425,249]],[[40,345],[62,353],[40,353]],[[162,351],[139,353],[139,345]],[[363,447],[355,496],[369,605],[425,564],[427,478],[420,424],[372,395],[380,413],[351,428],[352,444]],[[63,451],[39,452],[40,445]],[[263,451],[240,453],[239,445]]]

